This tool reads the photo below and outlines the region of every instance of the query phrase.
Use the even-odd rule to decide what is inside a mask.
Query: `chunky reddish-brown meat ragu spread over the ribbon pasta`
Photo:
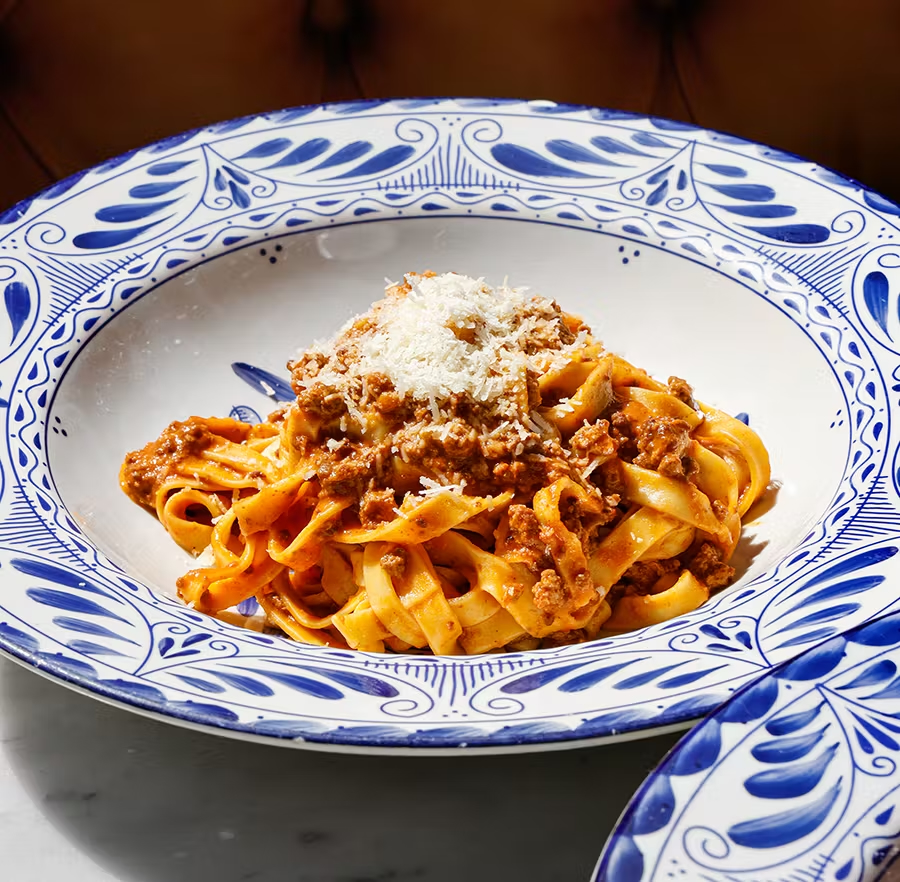
[[[489,367],[474,393],[461,388],[425,396],[410,387],[406,375],[398,379],[388,370],[362,371],[360,365],[367,359],[370,364],[377,361],[371,355],[371,340],[382,327],[385,312],[408,297],[421,280],[435,278],[434,273],[408,277],[389,289],[387,298],[368,314],[350,323],[328,348],[313,347],[289,362],[297,399],[266,422],[252,426],[191,417],[172,423],[157,440],[128,454],[121,471],[123,489],[135,502],[159,513],[167,495],[177,488],[209,484],[197,463],[212,459],[217,474],[224,476],[219,478],[223,486],[213,491],[224,511],[302,470],[313,488],[310,498],[320,507],[328,499],[351,501],[323,533],[326,540],[337,536],[335,541],[342,532],[377,530],[405,517],[409,500],[417,493],[508,498],[508,503],[482,511],[455,529],[477,548],[531,574],[525,577],[531,583],[527,590],[547,622],[571,610],[579,598],[593,602],[600,589],[589,561],[609,546],[603,572],[621,570],[615,557],[618,546],[604,540],[642,505],[629,498],[628,488],[634,475],[643,471],[629,472],[629,466],[691,485],[690,498],[709,492],[709,480],[697,460],[697,455],[710,455],[706,447],[698,447],[696,436],[704,412],[685,380],[670,377],[666,385],[652,380],[605,352],[580,319],[540,298],[517,307],[510,319],[523,353],[521,358],[516,353],[519,360],[511,379],[500,368]],[[477,318],[445,327],[471,347],[486,334]],[[497,385],[501,376],[505,385]],[[491,388],[493,392],[485,394]],[[741,465],[738,454],[731,448],[722,453],[719,448],[725,450],[727,445],[721,437],[710,437],[707,447],[726,457],[734,473],[747,479],[749,467]],[[254,472],[237,460],[232,465],[227,450],[222,452],[222,439],[265,453],[271,467]],[[228,480],[229,469],[233,482]],[[535,495],[550,487],[562,488],[554,497],[559,528],[549,525],[534,503]],[[634,560],[632,545],[619,543],[625,567],[614,584],[603,587],[605,602],[615,607],[623,597],[661,594],[685,571],[707,591],[729,584],[734,569],[726,561],[730,550],[721,536],[734,532],[734,503],[729,509],[724,497],[710,498],[720,538],[692,529],[675,556]],[[208,520],[207,513],[213,510],[219,509],[207,506],[200,516]],[[190,518],[189,509],[185,511]],[[731,525],[728,530],[726,523]],[[739,521],[737,525],[739,531]],[[422,535],[428,534],[427,517],[419,526]],[[232,532],[237,542],[237,521]],[[573,540],[580,555],[572,555],[566,545]],[[429,541],[425,540],[426,551]],[[346,552],[343,546],[340,549]],[[393,545],[382,555],[381,565],[392,579],[402,581],[407,559],[407,548]],[[573,565],[573,559],[580,563]],[[441,569],[447,570],[438,572],[447,596],[464,594],[469,587],[466,580]],[[314,580],[315,572],[305,578]],[[508,588],[512,593],[522,590],[521,584]],[[512,595],[508,599],[514,600]],[[283,611],[284,604],[278,602]],[[599,630],[586,623],[544,635],[525,633],[507,648],[577,642]]]

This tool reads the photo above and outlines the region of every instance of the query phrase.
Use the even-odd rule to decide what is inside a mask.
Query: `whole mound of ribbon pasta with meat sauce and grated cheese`
[[[198,555],[189,605],[304,643],[471,654],[665,621],[734,579],[769,482],[743,422],[527,289],[408,274],[288,368],[264,422],[173,422],[120,481]]]

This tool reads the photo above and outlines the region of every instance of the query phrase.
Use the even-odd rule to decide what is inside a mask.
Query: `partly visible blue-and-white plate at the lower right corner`
[[[594,882],[893,875],[898,670],[896,612],[776,665],[685,736],[647,779]]]

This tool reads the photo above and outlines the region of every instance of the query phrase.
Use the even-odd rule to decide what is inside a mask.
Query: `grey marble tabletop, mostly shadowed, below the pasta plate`
[[[677,737],[514,756],[341,756],[146,719],[0,658],[0,876],[579,882]]]

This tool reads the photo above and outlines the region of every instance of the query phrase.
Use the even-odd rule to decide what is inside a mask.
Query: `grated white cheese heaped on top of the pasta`
[[[529,372],[560,367],[584,345],[584,331],[568,344],[559,332],[555,304],[525,288],[492,288],[457,273],[409,274],[406,286],[389,287],[363,319],[310,350],[324,356],[314,381],[335,389],[360,424],[368,378],[380,374],[401,397],[427,404],[435,423],[449,416],[441,403],[461,395],[496,403],[498,412],[524,417],[532,431],[548,432],[549,424],[536,414],[529,419],[523,405]],[[338,357],[342,351],[352,357]]]

